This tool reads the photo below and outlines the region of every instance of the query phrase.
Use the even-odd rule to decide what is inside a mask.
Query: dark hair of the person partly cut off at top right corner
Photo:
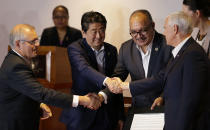
[[[200,10],[204,17],[210,16],[209,0],[183,0],[183,4],[189,6],[192,11]]]

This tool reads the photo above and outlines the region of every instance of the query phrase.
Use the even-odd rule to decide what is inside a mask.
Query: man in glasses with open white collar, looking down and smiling
[[[122,44],[114,77],[141,80],[158,74],[170,58],[170,47],[165,37],[155,31],[155,23],[147,10],[136,10],[130,16],[132,39]],[[160,91],[143,93],[132,98],[132,108],[148,109]]]

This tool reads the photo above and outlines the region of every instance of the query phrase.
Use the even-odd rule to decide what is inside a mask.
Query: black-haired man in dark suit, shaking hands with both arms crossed
[[[123,118],[120,115],[123,113],[123,98],[121,94],[115,94],[106,104],[107,96],[100,91],[105,88],[105,84],[112,82],[106,76],[113,74],[117,49],[104,42],[106,19],[101,13],[86,12],[81,24],[84,38],[68,47],[73,78],[72,92],[76,95],[99,93],[102,102],[105,98],[105,103],[97,111],[83,106],[64,110],[61,121],[67,125],[68,130],[113,130]]]

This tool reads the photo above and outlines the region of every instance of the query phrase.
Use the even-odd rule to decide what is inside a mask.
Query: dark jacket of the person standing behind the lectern
[[[40,45],[67,47],[69,44],[80,38],[82,38],[82,34],[78,29],[67,26],[66,35],[62,44],[60,44],[56,27],[50,27],[44,29],[44,31],[42,32]]]

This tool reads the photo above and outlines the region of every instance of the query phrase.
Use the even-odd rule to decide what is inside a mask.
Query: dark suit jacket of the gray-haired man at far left
[[[44,88],[26,61],[10,51],[0,68],[0,129],[38,129],[40,102],[70,107],[72,95]],[[13,126],[15,125],[15,126]]]

